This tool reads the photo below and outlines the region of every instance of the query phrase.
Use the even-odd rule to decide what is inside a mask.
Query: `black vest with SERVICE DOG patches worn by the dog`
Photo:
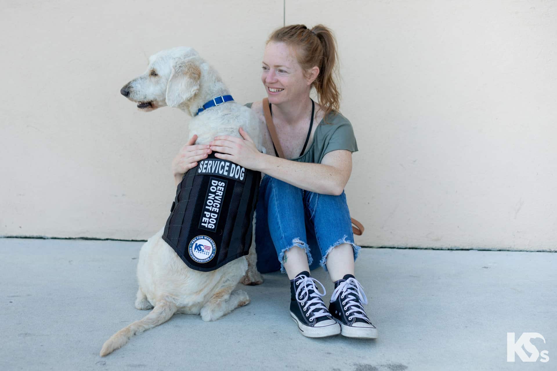
[[[163,240],[191,269],[212,271],[250,251],[261,172],[217,159],[188,170],[176,190]]]

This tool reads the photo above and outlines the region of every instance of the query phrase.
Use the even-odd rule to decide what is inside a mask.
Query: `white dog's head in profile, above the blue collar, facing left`
[[[164,106],[178,107],[199,91],[201,61],[193,48],[160,51],[149,57],[143,75],[124,85],[120,93],[137,102],[138,108],[145,112]]]

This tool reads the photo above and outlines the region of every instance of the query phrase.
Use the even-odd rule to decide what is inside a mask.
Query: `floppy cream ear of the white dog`
[[[201,70],[192,61],[178,61],[172,67],[167,85],[167,106],[177,107],[196,95],[199,90]]]

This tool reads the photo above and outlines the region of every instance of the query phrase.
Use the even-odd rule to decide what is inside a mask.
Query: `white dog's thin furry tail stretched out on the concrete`
[[[101,357],[126,345],[133,335],[140,334],[145,330],[165,323],[176,313],[177,309],[178,307],[173,301],[167,299],[157,301],[157,305],[155,305],[151,313],[146,315],[143,319],[135,321],[128,325],[128,327],[121,329],[119,332],[112,335],[110,339],[106,340],[104,345],[102,345]]]

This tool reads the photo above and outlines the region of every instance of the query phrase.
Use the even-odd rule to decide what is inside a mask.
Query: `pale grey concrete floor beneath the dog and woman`
[[[142,244],[0,239],[0,370],[557,369],[557,255],[518,251],[363,249],[356,278],[377,340],[303,337],[289,281],[272,273],[216,322],[174,315],[101,358],[146,314],[134,308]],[[328,275],[312,275],[328,303]],[[549,362],[507,362],[507,332],[543,335],[531,343]]]

